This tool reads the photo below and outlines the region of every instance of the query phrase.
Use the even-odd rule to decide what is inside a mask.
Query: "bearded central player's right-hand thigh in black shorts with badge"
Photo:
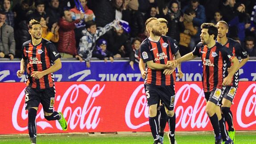
[[[165,105],[165,107],[169,111],[173,111],[174,109],[174,102],[175,102],[175,91],[174,86],[161,86],[159,88],[159,96],[161,99],[161,102]]]

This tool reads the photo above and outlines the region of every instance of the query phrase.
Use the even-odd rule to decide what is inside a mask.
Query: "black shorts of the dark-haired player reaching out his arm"
[[[204,92],[206,102],[210,101],[217,105],[221,97],[221,93],[222,93],[222,90],[218,88],[216,88],[215,91]]]

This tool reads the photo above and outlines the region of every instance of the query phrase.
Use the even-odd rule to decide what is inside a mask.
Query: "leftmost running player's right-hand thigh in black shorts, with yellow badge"
[[[53,113],[54,110],[54,102],[55,102],[55,88],[50,87],[46,88],[42,92],[41,96],[41,104],[43,106],[44,112]]]

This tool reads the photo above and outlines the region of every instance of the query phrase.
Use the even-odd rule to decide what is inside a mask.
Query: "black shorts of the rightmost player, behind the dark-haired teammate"
[[[221,98],[219,99],[218,105],[219,106],[222,105],[223,98],[231,101],[232,103],[233,99],[235,98],[236,90],[237,90],[237,87],[234,87],[234,86],[223,86],[223,92],[222,92]]]

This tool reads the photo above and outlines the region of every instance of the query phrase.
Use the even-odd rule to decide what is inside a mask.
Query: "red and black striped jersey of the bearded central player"
[[[157,42],[146,38],[140,45],[140,58],[144,63],[153,61],[158,64],[166,64],[167,61],[173,60],[173,54],[177,53],[178,49],[177,42],[170,37],[161,36]],[[146,71],[145,84],[158,86],[175,84],[175,72],[165,75],[163,74],[164,70],[152,70],[147,65]]]

